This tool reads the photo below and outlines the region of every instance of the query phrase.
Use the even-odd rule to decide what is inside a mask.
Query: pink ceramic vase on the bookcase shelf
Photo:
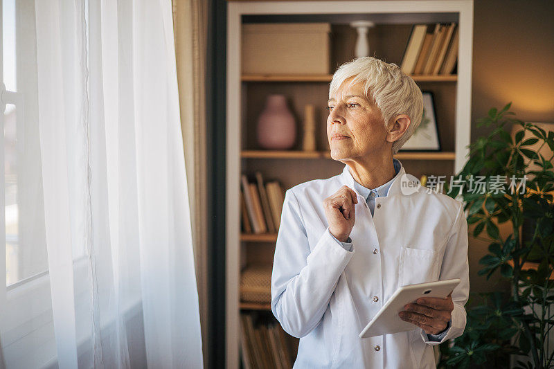
[[[296,123],[284,95],[269,95],[258,118],[258,145],[268,150],[288,150],[296,141]]]

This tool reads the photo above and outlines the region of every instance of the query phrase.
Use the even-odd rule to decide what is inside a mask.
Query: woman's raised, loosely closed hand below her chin
[[[341,242],[348,240],[348,236],[354,228],[355,204],[357,203],[356,192],[348,186],[342,186],[333,195],[323,200],[329,231]]]

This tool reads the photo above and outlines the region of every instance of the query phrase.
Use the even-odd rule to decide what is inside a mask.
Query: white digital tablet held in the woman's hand
[[[418,327],[402,321],[398,313],[404,306],[414,303],[420,297],[446,298],[460,283],[459,279],[439,280],[437,282],[419,283],[418,285],[402,286],[388,299],[383,307],[359,334],[361,339],[415,330]]]

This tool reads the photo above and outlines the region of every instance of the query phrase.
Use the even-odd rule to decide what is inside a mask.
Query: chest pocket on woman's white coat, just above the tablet
[[[401,286],[436,281],[440,273],[440,252],[402,246],[399,271]]]

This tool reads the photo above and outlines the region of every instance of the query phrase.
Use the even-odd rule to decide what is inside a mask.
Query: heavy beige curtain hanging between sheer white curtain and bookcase
[[[195,267],[199,290],[204,366],[208,366],[208,179],[206,137],[206,65],[208,1],[173,0],[181,129],[192,214]]]

